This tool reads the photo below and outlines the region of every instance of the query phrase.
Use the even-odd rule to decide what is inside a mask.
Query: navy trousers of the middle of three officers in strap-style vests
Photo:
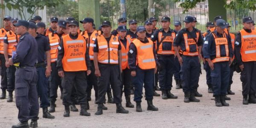
[[[195,93],[199,81],[199,59],[198,56],[182,56],[181,80],[184,93]]]

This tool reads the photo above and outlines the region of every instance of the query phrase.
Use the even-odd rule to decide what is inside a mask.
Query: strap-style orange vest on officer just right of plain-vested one
[[[158,33],[158,42],[159,43],[160,43],[160,41],[162,40],[163,37],[164,36],[162,35],[162,32],[159,31],[159,33]],[[173,55],[174,54],[173,46],[172,46],[170,51],[167,51],[167,50],[162,49],[162,44],[163,44],[163,42],[165,42],[165,43],[171,43],[171,45],[173,45],[173,41],[174,41],[175,37],[176,37],[176,34],[174,32],[172,32],[171,36],[166,36],[165,39],[163,39],[163,41],[159,44],[157,54]]]

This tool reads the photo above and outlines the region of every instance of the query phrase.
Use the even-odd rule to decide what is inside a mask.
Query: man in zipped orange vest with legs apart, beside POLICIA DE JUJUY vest
[[[95,75],[98,77],[98,103],[96,115],[102,114],[103,103],[105,103],[105,95],[109,83],[113,89],[114,102],[116,103],[116,113],[129,113],[121,104],[121,81],[118,66],[118,54],[121,54],[121,44],[118,37],[111,34],[111,23],[109,21],[102,22],[101,25],[103,34],[99,35],[94,44],[94,66]],[[119,57],[119,62],[122,62],[122,57]]]

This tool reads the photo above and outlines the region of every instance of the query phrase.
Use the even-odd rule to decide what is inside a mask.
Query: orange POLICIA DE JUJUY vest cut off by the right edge
[[[256,61],[256,32],[247,33],[244,29],[241,33],[241,58],[243,62]]]

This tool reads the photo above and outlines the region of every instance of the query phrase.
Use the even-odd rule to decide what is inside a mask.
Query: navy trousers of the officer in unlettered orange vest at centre
[[[134,77],[134,99],[133,101],[141,102],[143,84],[145,86],[146,100],[153,99],[153,86],[154,86],[154,69],[142,70],[136,68],[136,76]]]

